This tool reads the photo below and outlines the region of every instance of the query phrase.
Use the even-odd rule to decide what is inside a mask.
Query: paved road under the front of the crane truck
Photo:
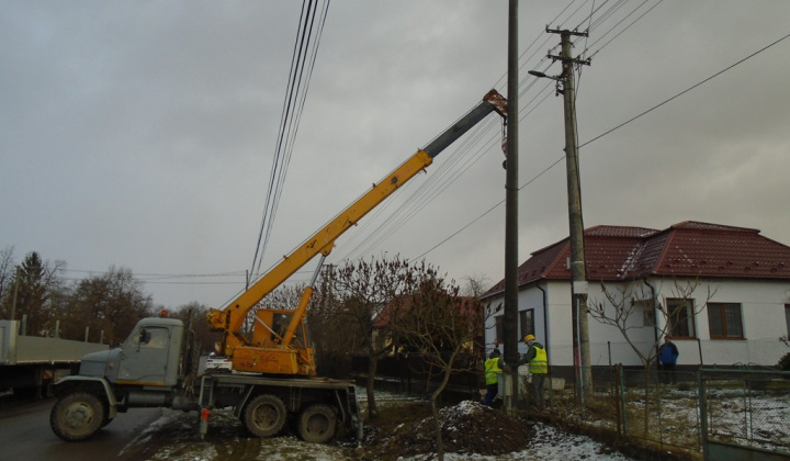
[[[159,408],[135,408],[119,416],[91,439],[65,442],[49,429],[49,411],[55,398],[10,403],[0,408],[2,459],[35,461],[139,460],[124,447],[161,415]],[[122,452],[123,451],[123,452]]]

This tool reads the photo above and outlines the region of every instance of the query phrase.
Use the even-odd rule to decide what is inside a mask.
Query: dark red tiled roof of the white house
[[[568,238],[533,252],[519,267],[519,285],[571,280]],[[645,276],[790,280],[790,247],[759,229],[686,221],[664,231],[630,226],[585,229],[588,280]],[[483,297],[505,290],[505,281]]]

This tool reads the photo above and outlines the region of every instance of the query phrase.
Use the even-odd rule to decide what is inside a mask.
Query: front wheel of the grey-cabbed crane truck
[[[88,392],[67,394],[57,401],[49,414],[49,426],[66,441],[90,438],[102,426],[104,404]]]

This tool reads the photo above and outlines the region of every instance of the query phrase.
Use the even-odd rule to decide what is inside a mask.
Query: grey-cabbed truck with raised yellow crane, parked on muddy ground
[[[53,431],[67,441],[84,440],[117,413],[135,407],[169,407],[200,412],[203,436],[211,411],[232,408],[259,437],[279,434],[290,419],[295,420],[300,436],[307,441],[326,442],[338,430],[359,437],[362,420],[356,387],[350,381],[316,378],[303,322],[321,263],[340,235],[492,112],[503,117],[507,114],[507,101],[495,90],[225,308],[208,312],[212,329],[223,331],[222,351],[233,362],[232,373],[198,373],[189,324],[167,317],[144,318],[121,347],[84,356],[78,374],[53,386],[58,396],[49,417]],[[320,262],[295,310],[253,310],[319,254]],[[242,326],[253,311],[249,335]],[[289,321],[280,328],[278,323],[283,318]]]

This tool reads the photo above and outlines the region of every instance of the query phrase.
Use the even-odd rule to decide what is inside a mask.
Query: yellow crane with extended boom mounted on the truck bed
[[[274,291],[294,272],[309,262],[316,255],[329,255],[335,240],[365,214],[406,183],[415,175],[427,168],[433,158],[470,131],[492,112],[507,117],[507,101],[495,90],[489,91],[472,111],[433,139],[428,146],[418,149],[410,158],[390,172],[380,182],[335,216],[327,225],[307,238],[283,260],[258,279],[224,310],[211,310],[207,321],[212,329],[223,330],[225,355],[230,357],[234,369],[274,374],[314,375],[313,351],[305,344],[293,347],[292,340],[302,325],[304,314],[313,293],[313,284],[305,288],[295,311],[261,310],[257,314],[252,340],[245,338],[241,331],[247,315],[264,296]],[[323,262],[323,260],[321,260]],[[320,265],[319,265],[320,268]],[[316,269],[316,273],[317,273]],[[315,277],[314,277],[315,281]],[[289,315],[291,321],[284,334],[274,328],[278,315]],[[258,328],[258,327],[261,328]]]

